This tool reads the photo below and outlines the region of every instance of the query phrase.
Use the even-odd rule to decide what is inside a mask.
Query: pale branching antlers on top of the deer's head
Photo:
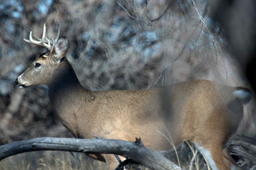
[[[37,40],[34,40],[33,37]],[[30,31],[29,33],[29,40],[27,39],[23,39],[24,41],[30,43],[30,44],[35,44],[35,45],[40,45],[40,46],[43,46],[45,47],[48,51],[50,51],[50,53],[52,52],[53,48],[54,48],[54,45],[55,43],[58,41],[59,37],[60,37],[60,26],[59,26],[59,23],[58,23],[58,32],[57,32],[57,36],[55,38],[55,40],[49,40],[47,37],[46,37],[46,26],[44,24],[44,28],[43,28],[43,35],[42,35],[42,39],[40,38],[36,38],[34,35],[32,37],[32,31]]]

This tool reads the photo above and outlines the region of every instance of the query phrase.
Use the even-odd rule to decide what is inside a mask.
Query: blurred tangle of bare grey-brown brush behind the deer
[[[60,23],[60,36],[68,38],[68,61],[90,90],[146,89],[193,79],[237,86],[244,83],[234,83],[232,78],[246,79],[245,75],[254,87],[255,2],[193,2],[0,0],[0,144],[72,137],[53,114],[43,87],[14,86],[45,50],[23,41],[29,31],[40,37],[44,23],[49,38],[56,36]],[[227,72],[227,58],[239,63],[240,75]],[[22,169],[29,169],[28,160],[38,161],[44,153],[37,154],[30,154]],[[0,168],[17,169],[5,166],[10,163],[6,161],[0,162]]]

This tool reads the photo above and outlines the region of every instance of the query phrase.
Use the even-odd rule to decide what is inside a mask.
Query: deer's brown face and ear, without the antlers
[[[61,58],[68,49],[68,40],[61,37],[53,47],[52,52],[40,55],[15,81],[15,85],[24,88],[31,85],[49,85],[54,79]]]

